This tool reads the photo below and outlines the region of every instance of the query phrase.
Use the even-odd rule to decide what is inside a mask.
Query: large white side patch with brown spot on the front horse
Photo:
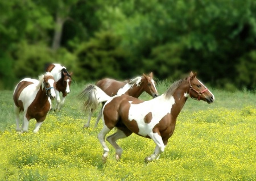
[[[131,104],[128,119],[137,121],[139,134],[142,136],[147,136],[152,132],[152,129],[155,127],[159,121],[171,113],[171,107],[175,104],[174,96],[171,96],[170,99],[166,99],[165,96],[161,95],[157,98],[151,99],[150,101],[145,101],[141,104]],[[161,105],[161,106],[159,106]],[[149,113],[152,113],[152,120],[150,123],[144,122],[144,117]]]

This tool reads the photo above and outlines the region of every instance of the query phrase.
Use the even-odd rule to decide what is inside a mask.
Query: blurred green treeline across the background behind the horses
[[[75,81],[193,70],[213,87],[256,87],[254,0],[11,0],[0,16],[0,89],[51,62]]]

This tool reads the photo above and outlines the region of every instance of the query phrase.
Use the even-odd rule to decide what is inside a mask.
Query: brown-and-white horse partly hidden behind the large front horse
[[[142,92],[146,91],[147,94],[151,95],[153,98],[158,96],[158,91],[155,87],[155,81],[153,79],[153,73],[151,72],[148,75],[143,74],[141,77],[136,77],[134,79],[129,79],[127,81],[116,81],[110,78],[101,79],[96,83],[96,86],[100,87],[106,94],[109,96],[126,94],[138,98]],[[85,90],[84,90],[85,91]],[[83,91],[83,92],[84,92]],[[102,103],[102,107],[104,103]],[[84,128],[90,127],[90,119],[92,117],[93,111],[96,108],[92,108],[88,115],[88,121],[84,124]],[[100,121],[102,115],[102,108],[98,114],[96,123],[94,127],[97,127],[98,121]]]

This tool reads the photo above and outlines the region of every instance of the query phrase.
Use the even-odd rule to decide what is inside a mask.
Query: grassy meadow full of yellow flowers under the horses
[[[118,140],[120,161],[107,143],[109,158],[102,163],[97,140],[101,121],[93,128],[98,112],[90,128],[82,128],[87,115],[77,94],[84,86],[71,85],[63,110],[49,112],[37,134],[32,132],[35,120],[30,120],[28,133],[16,133],[13,91],[0,91],[0,180],[256,180],[254,91],[210,89],[213,104],[189,98],[157,161],[144,163],[155,144],[132,134]],[[158,83],[159,94],[168,86]],[[140,98],[151,99],[147,94]]]

